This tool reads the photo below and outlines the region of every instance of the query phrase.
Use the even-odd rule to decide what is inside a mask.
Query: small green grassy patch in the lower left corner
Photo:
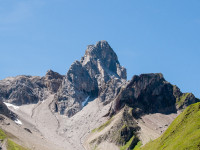
[[[6,139],[7,139],[7,143],[6,143],[7,144],[7,150],[28,150],[28,149],[16,144],[12,140],[8,139],[5,132],[0,129],[0,140],[3,141],[3,140],[6,140]]]

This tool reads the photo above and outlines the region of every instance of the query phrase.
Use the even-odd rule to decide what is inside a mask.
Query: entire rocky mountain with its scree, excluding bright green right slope
[[[87,47],[66,75],[48,70],[43,77],[20,75],[0,81],[0,147],[139,149],[159,138],[196,102],[198,98],[182,93],[162,73],[134,75],[127,81],[116,53],[107,41],[99,41]],[[181,126],[181,120],[178,123]],[[160,141],[169,145],[162,137]]]

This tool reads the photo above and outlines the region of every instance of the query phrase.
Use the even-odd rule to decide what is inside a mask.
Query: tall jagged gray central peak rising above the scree
[[[108,103],[126,82],[126,69],[106,41],[89,45],[84,57],[75,61],[55,96],[54,110],[69,117],[99,97]]]

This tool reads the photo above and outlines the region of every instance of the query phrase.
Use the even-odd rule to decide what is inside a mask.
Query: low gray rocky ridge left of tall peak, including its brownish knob
[[[15,105],[37,103],[57,92],[63,76],[48,71],[46,76],[17,76],[0,81],[0,100]]]

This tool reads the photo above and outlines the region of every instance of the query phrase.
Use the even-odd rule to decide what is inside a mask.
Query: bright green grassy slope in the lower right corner
[[[190,105],[158,139],[149,142],[142,150],[199,150],[200,102]]]

